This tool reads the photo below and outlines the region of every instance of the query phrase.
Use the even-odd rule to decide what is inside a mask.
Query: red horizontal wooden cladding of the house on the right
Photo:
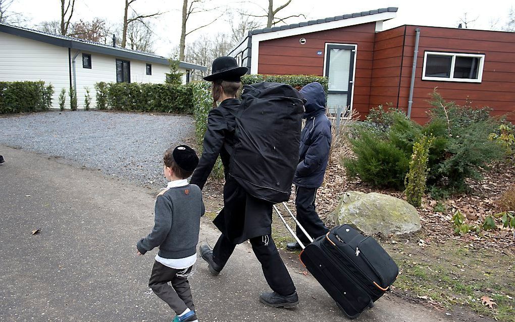
[[[362,116],[386,103],[407,109],[415,46],[419,53],[411,116],[428,120],[427,102],[435,87],[446,100],[477,107],[490,106],[494,115],[515,121],[515,33],[425,26],[400,26],[374,32],[375,24],[324,30],[260,43],[258,72],[322,75],[325,43],[357,44],[353,107]],[[306,43],[300,44],[299,39]],[[422,80],[425,51],[485,54],[481,83]],[[322,52],[318,55],[317,52]]]

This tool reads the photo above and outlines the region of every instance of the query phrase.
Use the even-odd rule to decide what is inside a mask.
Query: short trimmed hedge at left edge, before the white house
[[[48,110],[52,94],[44,81],[0,81],[0,114]]]

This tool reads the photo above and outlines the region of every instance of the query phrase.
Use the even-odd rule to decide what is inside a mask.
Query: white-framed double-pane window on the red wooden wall
[[[484,54],[425,52],[422,79],[480,83],[484,61]]]

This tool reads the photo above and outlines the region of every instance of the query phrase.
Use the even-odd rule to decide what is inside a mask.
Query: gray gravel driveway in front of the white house
[[[0,129],[0,144],[63,157],[153,188],[165,183],[164,151],[191,142],[195,131],[187,115],[99,111],[0,117]]]

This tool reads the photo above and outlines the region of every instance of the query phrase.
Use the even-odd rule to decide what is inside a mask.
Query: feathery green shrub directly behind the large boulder
[[[347,173],[376,187],[401,189],[409,168],[405,152],[374,133],[361,130],[350,140],[356,159],[347,159]]]

